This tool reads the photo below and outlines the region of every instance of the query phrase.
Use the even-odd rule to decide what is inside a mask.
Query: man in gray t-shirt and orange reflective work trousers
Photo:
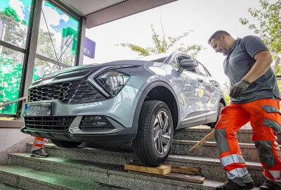
[[[270,63],[273,59],[259,37],[234,39],[226,31],[214,32],[208,43],[226,59],[224,72],[231,84],[231,103],[222,111],[215,127],[219,157],[228,182],[216,189],[254,189],[254,182],[237,142],[236,132],[247,122],[252,141],[263,165],[266,182],[260,189],[281,189],[281,153],[277,132],[281,131],[280,93]]]

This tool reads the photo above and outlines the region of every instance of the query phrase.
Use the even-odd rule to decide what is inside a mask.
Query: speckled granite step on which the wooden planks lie
[[[49,157],[31,158],[29,153],[13,153],[9,155],[11,165],[31,167],[60,175],[69,175],[79,179],[95,181],[128,189],[215,189],[223,184],[205,180],[204,184],[195,184],[172,179],[148,177],[145,175],[129,174],[123,165],[93,163],[85,160]]]

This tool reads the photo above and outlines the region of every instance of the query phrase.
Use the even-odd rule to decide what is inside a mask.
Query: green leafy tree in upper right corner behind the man
[[[273,57],[281,53],[281,0],[270,4],[268,0],[259,0],[261,9],[249,8],[251,17],[258,22],[257,25],[249,23],[247,18],[240,18],[242,25],[248,25],[250,30],[266,43]]]

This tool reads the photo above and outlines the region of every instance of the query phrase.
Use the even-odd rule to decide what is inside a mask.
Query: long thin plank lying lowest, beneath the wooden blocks
[[[179,173],[169,172],[166,175],[155,175],[150,173],[143,173],[143,172],[134,172],[134,171],[128,171],[130,174],[134,175],[145,175],[149,177],[159,177],[164,179],[172,179],[172,180],[178,180],[183,182],[191,182],[191,183],[197,183],[197,184],[203,184],[205,178],[197,175],[183,175]]]

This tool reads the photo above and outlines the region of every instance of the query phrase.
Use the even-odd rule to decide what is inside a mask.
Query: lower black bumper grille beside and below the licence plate
[[[75,116],[25,117],[27,129],[67,131]]]

